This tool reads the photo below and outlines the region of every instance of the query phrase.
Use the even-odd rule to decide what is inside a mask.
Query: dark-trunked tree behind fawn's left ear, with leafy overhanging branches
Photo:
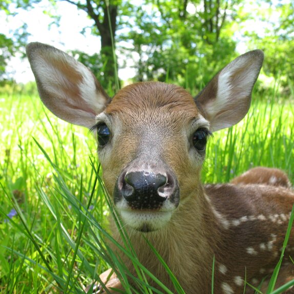
[[[86,0],[86,1],[75,1],[75,0],[59,0],[59,1],[66,1],[72,5],[75,5],[78,9],[81,9],[83,11],[86,11],[89,18],[93,20],[93,28],[92,32],[93,34],[97,34],[101,38],[101,52],[100,52],[100,60],[103,60],[103,68],[102,68],[102,74],[104,77],[107,78],[108,83],[111,83],[111,85],[114,86],[114,82],[116,80],[115,76],[117,74],[116,71],[116,58],[115,58],[115,44],[116,44],[116,30],[117,30],[117,16],[118,16],[118,10],[122,4],[121,0]],[[13,6],[16,9],[34,9],[34,6],[38,4],[40,0],[5,0],[0,2],[0,9],[3,9],[7,12],[7,14],[17,14],[16,12],[11,12],[10,5],[13,4]],[[52,5],[52,7],[48,7],[48,10],[50,11],[51,8],[54,8],[56,5],[56,1],[49,0],[49,4]],[[53,11],[53,10],[52,10]],[[52,23],[55,23],[58,25],[60,16],[55,15],[54,12],[50,11],[50,15],[52,17]],[[20,33],[15,32],[13,38],[7,38],[6,36],[0,36],[0,46],[2,46],[4,43],[6,43],[5,50],[2,48],[2,51],[5,53],[2,55],[2,65],[5,65],[10,56],[13,54],[12,45],[9,44],[9,40],[12,41],[12,43],[15,45],[15,49],[20,47],[25,47],[26,39],[24,36],[27,34],[26,27],[24,24],[23,32]],[[21,40],[21,42],[20,42]],[[9,50],[8,50],[9,49]],[[14,51],[16,51],[14,50]],[[8,54],[9,53],[9,54]],[[86,60],[85,54],[82,58]],[[89,57],[89,60],[93,60],[93,58]],[[99,62],[98,62],[99,63]],[[2,67],[0,70],[4,70]],[[5,70],[4,70],[5,71]],[[0,72],[1,73],[1,72]],[[107,86],[103,85],[103,86]]]

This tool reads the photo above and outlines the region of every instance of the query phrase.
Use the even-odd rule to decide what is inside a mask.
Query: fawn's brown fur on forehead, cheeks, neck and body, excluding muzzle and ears
[[[168,115],[171,109],[172,116]],[[254,180],[249,184],[249,177],[246,186],[240,186],[240,183],[202,186],[199,181],[201,165],[191,163],[180,132],[199,112],[190,94],[179,87],[155,82],[128,86],[114,97],[105,112],[121,122],[121,133],[127,132],[115,140],[117,144],[114,143],[112,153],[108,155],[109,161],[103,162],[103,178],[109,192],[113,191],[115,179],[125,164],[138,156],[146,129],[156,130],[156,136],[164,138],[160,140],[160,155],[176,173],[181,187],[180,205],[166,227],[146,234],[127,228],[143,265],[167,287],[173,289],[166,271],[144,241],[144,238],[148,238],[186,293],[210,291],[214,255],[215,293],[224,293],[223,283],[229,285],[234,293],[242,292],[244,284],[236,285],[234,278],[245,279],[245,269],[249,283],[253,279],[261,281],[270,274],[280,257],[288,214],[294,200],[294,194],[284,188],[282,182],[279,182],[279,187],[258,185]],[[128,115],[125,115],[126,113]],[[149,125],[148,121],[152,122],[152,125]],[[170,140],[166,136],[167,132],[171,132]],[[148,138],[150,148],[152,139],[150,136]],[[278,171],[267,169],[266,177],[269,179],[271,175],[277,175]],[[285,174],[279,172],[288,180]],[[239,178],[245,181],[246,177]],[[237,183],[238,178],[235,181]],[[204,194],[207,194],[207,197]],[[218,214],[213,212],[211,205],[229,222],[238,222],[244,216],[253,220],[241,222],[237,226],[230,224],[226,228]],[[275,222],[273,216],[282,212],[287,214],[287,218],[277,218]],[[264,216],[265,219],[254,219],[258,215]],[[117,232],[115,226],[113,232]],[[277,237],[273,238],[272,234]],[[120,240],[118,232],[114,236]],[[264,246],[270,245],[266,249],[260,249],[260,244],[263,243]],[[293,237],[289,240],[289,247],[291,246],[294,246]],[[247,248],[252,248],[250,250],[253,254],[249,254]],[[122,258],[127,267],[132,269],[131,261],[124,256]],[[223,265],[227,268],[225,274],[219,270]],[[265,272],[260,274],[259,271],[263,268]],[[151,284],[156,286],[152,282]],[[247,289],[250,293],[248,286]]]

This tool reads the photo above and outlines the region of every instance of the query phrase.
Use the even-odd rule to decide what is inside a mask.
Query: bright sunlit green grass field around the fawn
[[[267,95],[255,95],[243,121],[209,139],[204,182],[258,165],[279,167],[294,182],[294,104]],[[109,208],[92,167],[95,140],[35,95],[0,96],[0,113],[0,292],[82,293],[119,263],[104,242]]]

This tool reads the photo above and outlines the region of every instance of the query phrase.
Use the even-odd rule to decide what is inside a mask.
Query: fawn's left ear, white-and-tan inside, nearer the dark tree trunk
[[[46,107],[61,119],[91,128],[110,101],[92,72],[54,47],[30,43],[26,50]]]

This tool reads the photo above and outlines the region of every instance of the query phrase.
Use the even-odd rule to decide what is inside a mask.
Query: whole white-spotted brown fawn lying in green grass
[[[175,85],[138,82],[111,99],[66,53],[31,43],[27,54],[46,107],[97,134],[104,184],[146,268],[174,291],[145,238],[186,293],[211,291],[214,256],[215,293],[243,293],[245,275],[254,286],[265,279],[266,289],[294,203],[287,176],[259,167],[229,184],[200,181],[209,135],[236,124],[249,109],[262,51],[230,62],[195,98]],[[120,240],[115,225],[113,234]],[[293,236],[288,246],[291,253]],[[131,261],[121,258],[135,274]],[[286,259],[277,285],[293,278]],[[254,290],[247,286],[246,292]]]

